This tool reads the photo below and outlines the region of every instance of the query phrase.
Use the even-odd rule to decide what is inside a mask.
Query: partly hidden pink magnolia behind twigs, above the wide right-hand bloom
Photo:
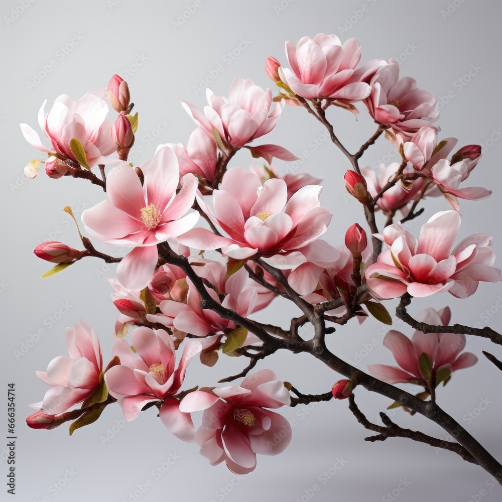
[[[361,167],[361,173],[366,180],[368,192],[372,197],[376,197],[385,185],[387,185],[387,182],[394,178],[398,169],[399,164],[397,162],[393,162],[387,167],[384,164],[380,164],[378,171],[374,171],[370,167]],[[404,172],[411,173],[413,169],[405,168]],[[376,206],[382,209],[384,214],[390,214],[400,209],[406,216],[408,214],[407,205],[419,195],[424,182],[424,178],[413,181],[409,190],[406,190],[402,183],[396,183],[376,201]]]

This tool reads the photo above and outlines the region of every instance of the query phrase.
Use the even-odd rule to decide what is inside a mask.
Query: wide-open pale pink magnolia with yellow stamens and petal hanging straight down
[[[194,202],[197,178],[179,181],[178,160],[168,147],[142,164],[145,182],[129,166],[117,167],[106,178],[107,200],[82,214],[86,230],[113,245],[135,246],[117,267],[118,280],[128,289],[141,291],[155,271],[157,244],[177,237],[195,225],[199,213],[187,214]]]

